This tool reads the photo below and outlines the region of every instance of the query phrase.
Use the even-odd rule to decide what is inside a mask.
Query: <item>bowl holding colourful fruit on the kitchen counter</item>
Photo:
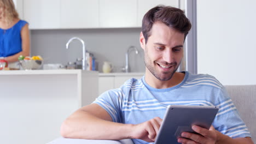
[[[32,70],[32,69],[39,69],[43,65],[43,61],[41,60],[21,60],[20,66],[24,70]]]

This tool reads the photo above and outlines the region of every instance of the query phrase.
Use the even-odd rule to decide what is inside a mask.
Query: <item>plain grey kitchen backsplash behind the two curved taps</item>
[[[82,44],[74,40],[66,49],[67,41],[72,37],[84,40],[86,50],[93,53],[97,67],[102,72],[104,61],[113,64],[112,72],[121,72],[125,66],[125,53],[129,46],[136,46],[139,53],[129,52],[131,72],[144,72],[144,54],[139,45],[141,28],[108,29],[44,29],[31,31],[31,55],[40,55],[44,63],[67,65],[82,58]]]

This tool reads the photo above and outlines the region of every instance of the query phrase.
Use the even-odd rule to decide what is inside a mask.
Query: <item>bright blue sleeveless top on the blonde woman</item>
[[[27,24],[20,20],[8,29],[0,28],[0,57],[8,57],[22,51],[21,29]]]

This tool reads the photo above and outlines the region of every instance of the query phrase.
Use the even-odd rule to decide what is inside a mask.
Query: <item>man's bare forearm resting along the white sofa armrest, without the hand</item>
[[[121,124],[97,118],[88,112],[77,111],[61,125],[61,135],[73,139],[128,139],[131,124]]]

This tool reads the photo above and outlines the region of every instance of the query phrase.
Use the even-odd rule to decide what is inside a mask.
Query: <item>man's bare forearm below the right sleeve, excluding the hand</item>
[[[232,139],[231,137],[224,135],[218,131],[219,140],[216,142],[217,144],[253,144],[253,141],[250,137],[238,137],[236,139]]]

